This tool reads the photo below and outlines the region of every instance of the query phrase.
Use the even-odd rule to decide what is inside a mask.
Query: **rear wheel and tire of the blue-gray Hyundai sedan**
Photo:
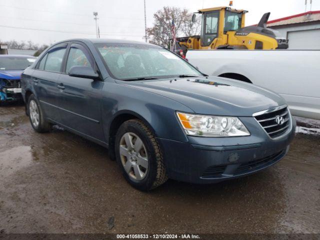
[[[30,119],[31,126],[37,132],[48,132],[51,129],[51,124],[45,120],[43,111],[40,107],[38,100],[34,94],[31,94],[27,102],[27,111]],[[36,120],[37,119],[37,120]]]

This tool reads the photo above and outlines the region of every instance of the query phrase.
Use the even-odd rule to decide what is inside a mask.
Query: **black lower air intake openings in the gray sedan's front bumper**
[[[279,160],[280,156],[283,156],[285,153],[285,150],[276,152],[272,155],[262,157],[259,159],[251,160],[248,162],[243,162],[241,164],[238,164],[238,166],[234,169],[232,173],[228,173],[228,176],[236,176],[241,175],[245,173],[250,173],[252,171],[255,171],[257,169],[262,169],[268,165],[271,165]],[[237,165],[237,164],[233,164]],[[210,166],[208,167],[205,172],[201,175],[201,178],[219,178],[223,177],[223,173],[227,166],[232,166],[232,164],[226,164],[226,165],[218,165],[218,166]]]

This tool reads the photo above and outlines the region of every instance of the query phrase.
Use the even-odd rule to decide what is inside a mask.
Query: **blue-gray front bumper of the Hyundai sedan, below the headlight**
[[[169,178],[214,183],[262,170],[279,161],[295,134],[295,121],[285,136],[271,139],[252,117],[241,117],[250,136],[191,137],[189,142],[157,138],[164,151]]]

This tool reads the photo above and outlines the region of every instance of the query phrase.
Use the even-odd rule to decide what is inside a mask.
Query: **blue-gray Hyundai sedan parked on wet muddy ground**
[[[107,147],[140,190],[167,178],[213,183],[257,172],[294,136],[278,94],[207,76],[143,42],[58,42],[24,70],[21,87],[35,131],[57,124]]]

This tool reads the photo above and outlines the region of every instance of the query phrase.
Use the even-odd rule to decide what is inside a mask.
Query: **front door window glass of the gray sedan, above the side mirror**
[[[65,72],[68,73],[72,66],[91,66],[93,67],[90,57],[81,48],[71,46],[69,55],[66,61]]]

